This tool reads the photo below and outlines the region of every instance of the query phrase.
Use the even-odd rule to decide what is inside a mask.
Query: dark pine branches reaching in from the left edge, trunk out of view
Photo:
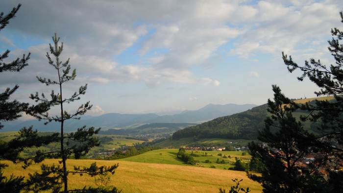
[[[21,4],[14,7],[10,13],[4,15],[3,12],[0,13],[0,31],[9,24],[9,20],[14,18],[18,12]],[[0,72],[20,72],[27,65],[27,60],[30,58],[30,53],[25,56],[23,54],[22,58],[17,58],[12,62],[5,63],[4,59],[8,57],[10,50],[4,51],[0,54]],[[18,100],[10,100],[11,95],[19,88],[15,85],[13,88],[6,88],[3,93],[0,93],[0,121],[14,121],[22,116],[22,112],[27,112],[29,110],[36,112],[43,112],[46,108],[41,109],[40,107],[29,107],[28,103],[19,102]],[[43,107],[43,106],[42,106]],[[45,106],[46,107],[46,106]],[[0,129],[3,125],[0,123]],[[21,136],[31,135],[32,138],[38,137],[32,128],[22,129],[20,132]],[[39,146],[41,140],[27,141],[21,138],[13,139],[9,142],[0,141],[0,159],[7,159],[16,162],[19,158],[19,153],[26,146]],[[43,142],[44,143],[44,142]],[[24,177],[16,177],[13,174],[7,178],[3,176],[2,170],[7,167],[5,164],[0,164],[0,192],[20,192],[25,187]]]

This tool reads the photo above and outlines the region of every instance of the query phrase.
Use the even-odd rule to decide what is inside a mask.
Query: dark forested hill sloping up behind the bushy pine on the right
[[[254,107],[242,113],[220,117],[196,126],[186,127],[176,131],[173,139],[196,137],[227,138],[227,139],[256,139],[257,131],[265,124],[268,115],[267,104]]]

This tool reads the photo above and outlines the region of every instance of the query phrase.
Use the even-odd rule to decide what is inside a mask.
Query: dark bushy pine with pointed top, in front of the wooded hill
[[[248,145],[252,158],[260,160],[264,165],[262,175],[248,176],[261,183],[264,192],[296,193],[303,189],[310,190],[311,183],[303,178],[312,172],[300,167],[298,161],[311,153],[315,145],[314,135],[304,130],[301,122],[293,117],[291,100],[276,85],[272,89],[274,101],[268,100],[271,117],[265,120],[266,126],[258,136],[264,145],[254,142]]]

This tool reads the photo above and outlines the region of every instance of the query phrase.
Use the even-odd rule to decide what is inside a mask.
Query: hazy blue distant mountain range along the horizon
[[[98,117],[83,116],[80,120],[69,120],[65,122],[65,131],[72,132],[77,128],[87,125],[101,127],[102,131],[113,128],[133,129],[149,123],[200,123],[218,117],[240,113],[256,107],[255,104],[209,104],[196,111],[184,111],[180,114],[158,116],[156,114],[118,114],[108,113]],[[38,131],[59,131],[59,122],[50,122],[44,125],[44,121],[7,121],[0,132],[19,131],[23,127],[33,126]]]

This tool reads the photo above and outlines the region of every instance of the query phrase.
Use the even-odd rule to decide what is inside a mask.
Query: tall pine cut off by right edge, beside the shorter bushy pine
[[[343,12],[340,12],[341,23],[343,23]],[[298,77],[302,81],[308,77],[320,90],[315,92],[317,96],[334,96],[334,100],[317,100],[315,104],[296,105],[296,108],[310,112],[310,116],[301,117],[302,121],[318,122],[319,135],[316,136],[316,143],[323,156],[315,159],[315,163],[321,168],[326,168],[327,179],[320,183],[322,190],[327,192],[340,192],[343,189],[341,179],[343,171],[333,171],[328,165],[331,160],[328,156],[335,156],[343,160],[343,31],[338,28],[331,29],[333,38],[328,41],[328,50],[335,59],[335,64],[329,67],[314,58],[305,61],[304,66],[296,64],[292,57],[283,55],[283,60],[289,72],[299,69],[303,74]],[[320,175],[318,175],[320,176]]]

